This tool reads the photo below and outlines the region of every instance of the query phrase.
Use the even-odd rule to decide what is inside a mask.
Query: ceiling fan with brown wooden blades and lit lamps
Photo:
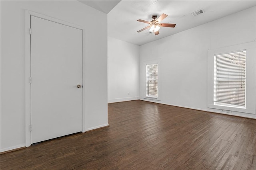
[[[149,25],[143,29],[140,29],[139,31],[137,31],[138,33],[141,31],[144,31],[145,29],[148,29],[150,27],[150,32],[151,33],[155,33],[155,35],[159,34],[159,29],[160,27],[175,27],[176,24],[174,23],[160,23],[162,20],[164,20],[164,18],[166,18],[168,15],[166,14],[162,14],[160,15],[160,17],[157,18],[156,15],[152,15],[152,21],[145,21],[145,20],[137,20],[140,22],[144,22],[144,23],[148,23]],[[156,19],[157,18],[157,19]]]

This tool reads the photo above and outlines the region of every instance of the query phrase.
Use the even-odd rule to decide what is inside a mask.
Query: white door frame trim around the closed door
[[[85,112],[85,28],[73,23],[52,18],[43,14],[39,14],[30,10],[25,10],[25,145],[31,146],[31,53],[30,53],[30,16],[42,18],[44,20],[53,21],[69,27],[82,30],[82,133],[86,131],[86,112]],[[32,30],[33,33],[33,30]],[[33,81],[33,80],[32,80]]]

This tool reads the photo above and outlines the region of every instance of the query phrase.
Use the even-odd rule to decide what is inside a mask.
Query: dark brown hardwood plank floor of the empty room
[[[1,169],[256,170],[256,120],[144,102],[108,104],[110,127],[1,155]]]

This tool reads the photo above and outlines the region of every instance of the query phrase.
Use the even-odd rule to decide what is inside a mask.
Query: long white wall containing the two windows
[[[140,46],[140,100],[220,112],[207,107],[207,51],[255,41],[255,12],[252,7]],[[161,59],[161,101],[144,99],[143,63],[154,59]],[[256,118],[241,112],[232,115]]]

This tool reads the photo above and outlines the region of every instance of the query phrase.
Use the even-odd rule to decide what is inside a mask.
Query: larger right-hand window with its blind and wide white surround
[[[220,113],[255,116],[256,42],[207,53],[207,107]]]

